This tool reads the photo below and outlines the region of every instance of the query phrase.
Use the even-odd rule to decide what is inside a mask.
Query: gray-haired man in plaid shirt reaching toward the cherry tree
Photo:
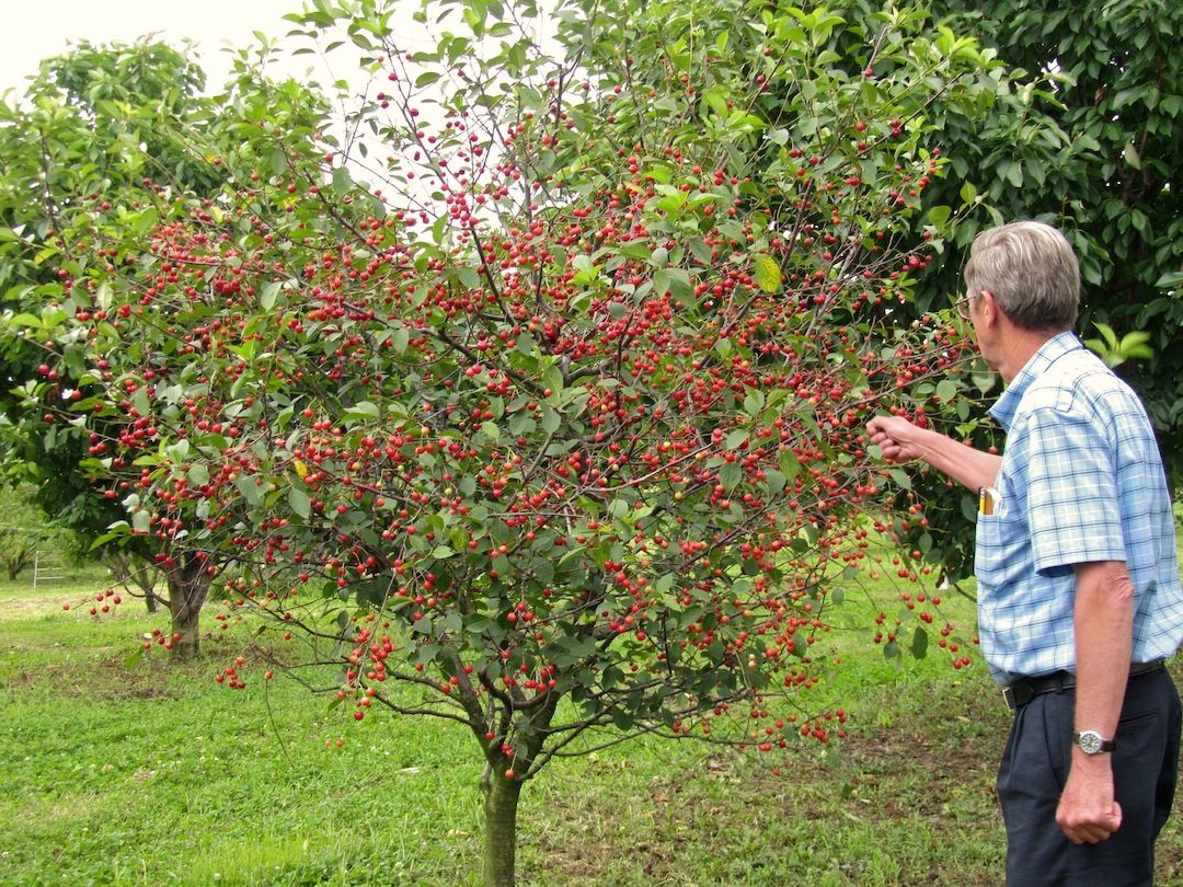
[[[980,492],[978,634],[1015,712],[998,769],[1009,885],[1149,885],[1179,756],[1175,524],[1142,403],[1071,332],[1077,257],[1034,221],[981,233],[957,303],[1007,388],[1003,455],[898,416],[867,430]]]

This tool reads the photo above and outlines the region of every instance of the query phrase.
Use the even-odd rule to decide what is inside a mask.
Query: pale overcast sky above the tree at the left
[[[201,66],[211,85],[221,85],[230,61],[221,48],[254,43],[253,31],[282,37],[290,22],[284,13],[303,8],[303,0],[20,0],[5,4],[0,27],[0,92],[24,90],[43,58],[57,56],[69,43],[131,41],[159,33],[180,45],[198,43]],[[303,69],[315,64],[302,57]],[[303,70],[302,69],[302,70]]]

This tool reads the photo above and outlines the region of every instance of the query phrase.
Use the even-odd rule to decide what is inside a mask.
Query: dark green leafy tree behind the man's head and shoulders
[[[1138,389],[1177,479],[1183,60],[1175,44],[1183,8],[1165,0],[931,8],[1026,77],[983,117],[955,110],[938,119],[951,167],[929,199],[965,218],[958,248],[925,281],[918,304],[943,304],[957,290],[964,247],[980,228],[1017,218],[1065,228],[1085,281],[1079,329]]]

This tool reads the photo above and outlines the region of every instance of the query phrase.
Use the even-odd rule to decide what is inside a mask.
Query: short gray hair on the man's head
[[[974,238],[967,294],[987,291],[1016,326],[1072,329],[1080,305],[1080,265],[1064,234],[1039,221],[1015,221]]]

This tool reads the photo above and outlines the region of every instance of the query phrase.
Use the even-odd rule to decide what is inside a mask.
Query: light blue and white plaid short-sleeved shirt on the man
[[[990,410],[1007,432],[993,514],[978,514],[978,635],[995,678],[1075,668],[1073,564],[1124,561],[1133,656],[1183,641],[1175,522],[1150,420],[1071,332],[1046,342]]]

